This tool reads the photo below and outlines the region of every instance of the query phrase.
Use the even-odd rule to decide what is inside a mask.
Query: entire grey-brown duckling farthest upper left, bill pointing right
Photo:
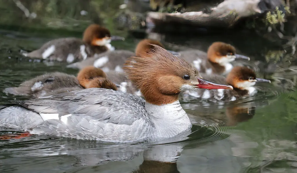
[[[112,40],[124,40],[123,37],[110,36],[107,28],[92,24],[83,33],[83,40],[78,38],[60,38],[51,40],[30,53],[23,53],[30,58],[49,59],[72,63],[84,60],[94,54],[115,48],[110,45]]]

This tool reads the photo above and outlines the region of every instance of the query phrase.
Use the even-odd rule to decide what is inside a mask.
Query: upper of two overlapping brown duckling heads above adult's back
[[[94,66],[86,66],[77,74],[77,80],[83,88],[87,88],[89,82],[96,77],[106,78],[106,74],[101,69]]]

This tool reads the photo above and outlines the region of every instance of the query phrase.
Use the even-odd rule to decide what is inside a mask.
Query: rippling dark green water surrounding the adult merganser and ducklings
[[[6,17],[11,17],[11,14],[7,13]],[[80,37],[83,29],[62,32],[40,26],[41,29],[23,30],[20,29],[23,23],[15,20],[12,20],[14,26],[3,26],[1,23],[0,90],[17,86],[45,72],[78,72],[67,69],[64,63],[27,59],[20,55],[20,50],[34,50],[50,39],[65,36],[65,33]],[[81,21],[77,23],[81,24]],[[111,27],[109,20],[105,23]],[[50,32],[45,32],[45,29]],[[1,173],[297,172],[296,62],[291,60],[287,64],[281,59],[277,62],[281,68],[274,69],[274,63],[267,61],[273,59],[269,52],[282,50],[280,45],[248,31],[229,36],[160,36],[115,28],[111,30],[126,37],[125,42],[114,42],[113,45],[117,49],[132,51],[144,35],[161,40],[173,50],[206,50],[213,41],[228,42],[236,45],[239,53],[250,56],[248,65],[257,71],[259,77],[271,79],[272,83],[258,85],[259,92],[255,96],[226,104],[200,100],[183,103],[193,123],[192,134],[162,145],[112,144],[36,135],[0,140]],[[260,65],[257,67],[255,64]],[[2,92],[0,97],[1,104],[12,99],[25,99]],[[0,131],[0,134],[14,133],[18,132],[10,129]],[[152,155],[164,161],[177,159],[177,162],[160,164],[149,161]]]

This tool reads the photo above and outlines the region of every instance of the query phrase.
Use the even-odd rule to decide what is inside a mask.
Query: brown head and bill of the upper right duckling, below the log
[[[235,48],[227,43],[214,42],[207,51],[207,58],[213,63],[225,65],[235,59],[247,59],[249,57],[236,54]]]

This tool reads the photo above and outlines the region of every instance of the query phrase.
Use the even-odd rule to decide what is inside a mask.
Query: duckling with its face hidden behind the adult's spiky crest
[[[157,40],[143,39],[137,44],[135,48],[135,53],[129,50],[115,50],[112,52],[105,52],[98,54],[95,57],[83,60],[81,62],[69,64],[67,67],[82,69],[86,66],[94,66],[97,68],[101,68],[104,72],[109,72],[113,70],[116,72],[123,72],[122,66],[127,60],[127,58],[130,58],[131,56],[135,55],[140,56],[146,54],[150,49],[154,48],[154,45],[158,45],[164,48],[164,45],[162,45],[162,43],[160,43]],[[169,52],[174,55],[178,55],[178,53],[174,51]]]

